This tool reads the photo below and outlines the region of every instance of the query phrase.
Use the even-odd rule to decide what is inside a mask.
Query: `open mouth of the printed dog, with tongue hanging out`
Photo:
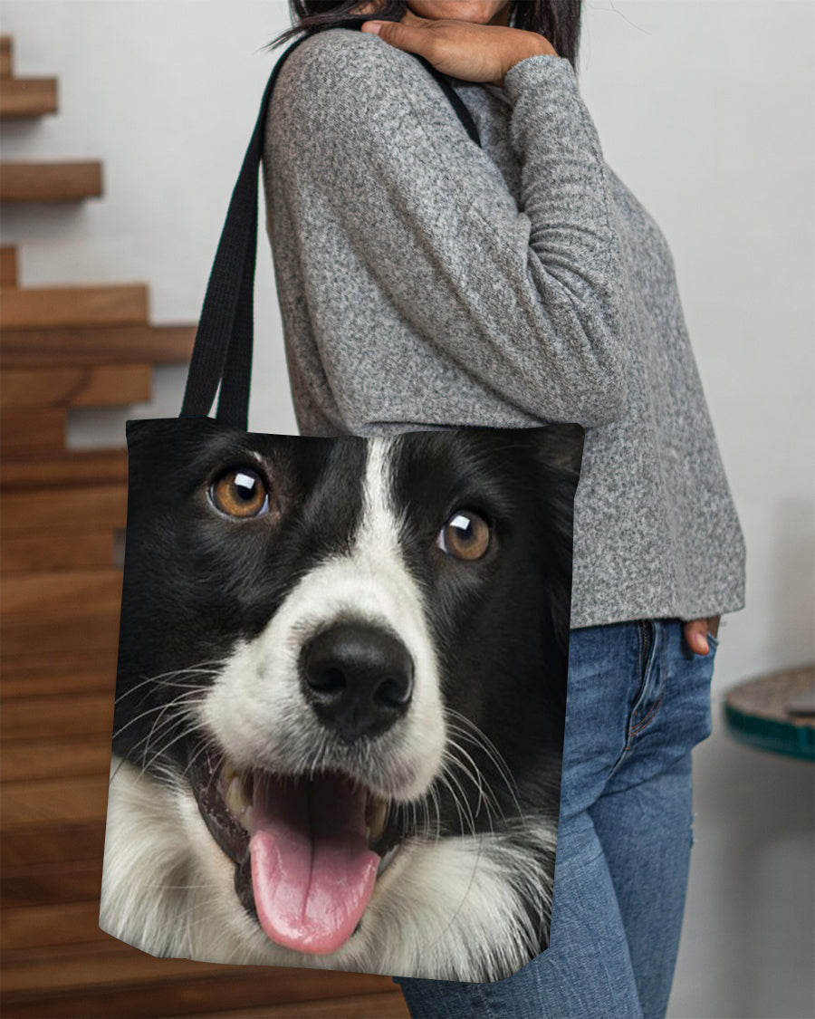
[[[391,804],[338,771],[241,773],[203,754],[189,774],[210,833],[236,864],[235,891],[266,934],[318,955],[344,945],[404,837]]]

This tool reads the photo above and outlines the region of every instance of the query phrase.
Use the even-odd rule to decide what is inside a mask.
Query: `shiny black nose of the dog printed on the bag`
[[[413,658],[384,630],[337,624],[306,644],[301,664],[315,713],[346,743],[389,729],[411,703]]]

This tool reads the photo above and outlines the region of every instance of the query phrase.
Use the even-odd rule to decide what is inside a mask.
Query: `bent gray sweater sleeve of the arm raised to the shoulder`
[[[517,204],[413,56],[373,35],[342,36],[292,54],[272,101],[267,139],[298,257],[319,263],[338,231],[352,270],[337,302],[354,300],[362,272],[367,299],[378,294],[439,357],[521,411],[585,426],[617,419],[627,280],[572,65],[538,55],[505,77]],[[319,341],[330,343],[330,312],[321,321]]]

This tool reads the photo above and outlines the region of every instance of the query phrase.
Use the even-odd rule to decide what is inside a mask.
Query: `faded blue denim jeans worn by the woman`
[[[677,620],[573,630],[549,948],[494,983],[394,977],[419,1019],[657,1019],[688,886],[710,652]]]

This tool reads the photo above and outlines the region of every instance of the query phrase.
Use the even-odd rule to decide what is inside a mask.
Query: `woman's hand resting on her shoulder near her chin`
[[[362,31],[376,32],[391,46],[418,53],[443,74],[499,87],[520,60],[541,53],[557,56],[552,44],[537,32],[419,17],[411,10],[400,21],[364,21]]]

